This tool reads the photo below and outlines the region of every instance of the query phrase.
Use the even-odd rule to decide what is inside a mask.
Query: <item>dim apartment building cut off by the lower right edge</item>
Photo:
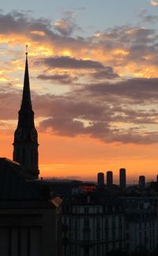
[[[125,216],[126,251],[157,250],[158,223],[156,197],[122,197]]]

